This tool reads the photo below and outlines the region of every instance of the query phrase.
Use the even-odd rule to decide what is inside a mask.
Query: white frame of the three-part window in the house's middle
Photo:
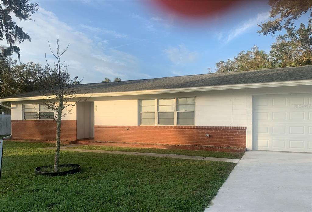
[[[194,102],[194,111],[177,111],[177,99],[179,98],[195,98],[195,102]],[[174,110],[173,110],[173,125],[165,125],[165,124],[158,124],[158,100],[159,99],[174,99]],[[140,112],[140,101],[141,100],[153,100],[153,99],[139,99],[138,101],[138,112],[139,112],[139,116],[138,116],[138,125],[139,126],[195,126],[195,107],[196,107],[196,97],[194,96],[189,96],[189,97],[178,97],[178,98],[159,98],[159,99],[155,99],[155,122],[154,124],[141,124],[140,123],[140,114],[141,113],[152,113],[152,112]],[[170,111],[172,113],[172,111]],[[170,113],[168,111],[168,113]],[[178,119],[177,119],[177,112],[194,112],[194,125],[178,125]],[[166,112],[160,112],[160,113],[166,113]]]

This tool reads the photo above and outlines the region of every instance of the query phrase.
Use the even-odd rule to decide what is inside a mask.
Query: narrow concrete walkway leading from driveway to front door
[[[98,153],[122,154],[122,155],[144,155],[144,156],[170,157],[170,158],[193,159],[193,160],[203,160],[203,161],[223,161],[223,162],[232,162],[232,163],[238,163],[240,161],[239,159],[230,159],[230,158],[159,154],[159,153],[148,153],[148,152],[121,152],[121,151],[105,151],[105,150],[91,150],[91,149],[69,149],[69,147],[77,147],[77,146],[79,145],[71,144],[71,145],[61,146],[60,150],[61,151],[74,151],[74,152],[98,152]],[[55,147],[45,147],[41,149],[55,149]]]

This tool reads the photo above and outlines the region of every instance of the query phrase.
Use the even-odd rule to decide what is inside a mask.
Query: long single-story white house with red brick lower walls
[[[312,152],[312,65],[78,86],[90,98],[63,117],[63,140]],[[0,100],[11,102],[12,139],[54,139],[55,122],[32,114],[40,92]]]

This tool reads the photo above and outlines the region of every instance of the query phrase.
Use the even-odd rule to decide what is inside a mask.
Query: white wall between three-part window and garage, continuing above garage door
[[[311,93],[312,86],[235,89],[202,92],[196,96],[196,126],[247,127],[246,148],[252,149],[253,95]]]

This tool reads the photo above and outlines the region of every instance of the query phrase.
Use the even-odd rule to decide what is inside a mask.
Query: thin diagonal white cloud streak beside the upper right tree
[[[260,22],[263,22],[263,21],[269,19],[269,17],[270,17],[269,12],[263,12],[263,13],[259,13],[256,17],[250,18],[248,21],[241,23],[235,29],[232,29],[230,31],[225,42],[227,43],[227,42],[231,41],[233,38],[241,35],[245,31],[247,31],[249,28],[256,26],[257,23],[260,23]]]

